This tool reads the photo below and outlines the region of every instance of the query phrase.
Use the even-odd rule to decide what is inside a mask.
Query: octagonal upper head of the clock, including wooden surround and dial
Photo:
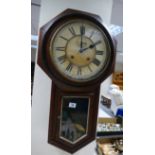
[[[114,59],[113,39],[97,15],[67,9],[40,29],[38,64],[56,83],[100,84]]]

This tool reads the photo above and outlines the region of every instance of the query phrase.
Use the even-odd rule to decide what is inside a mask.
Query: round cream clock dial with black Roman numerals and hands
[[[110,46],[104,32],[88,20],[62,24],[51,38],[50,56],[57,70],[75,81],[87,81],[104,69]]]

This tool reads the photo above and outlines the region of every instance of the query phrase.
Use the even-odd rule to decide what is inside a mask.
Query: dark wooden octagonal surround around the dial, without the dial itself
[[[57,27],[59,27],[64,21],[71,20],[71,19],[85,19],[92,21],[93,23],[97,24],[106,34],[106,37],[110,44],[110,51],[109,52],[109,58],[106,62],[105,67],[102,69],[102,71],[93,79],[90,79],[88,81],[72,81],[71,79],[67,79],[66,77],[62,76],[53,65],[51,59],[50,59],[50,39]],[[54,19],[50,20],[47,24],[45,24],[40,29],[40,37],[39,37],[39,49],[38,49],[38,64],[41,66],[41,68],[47,73],[47,75],[59,86],[66,87],[66,85],[73,87],[73,88],[79,88],[83,87],[85,88],[87,86],[88,89],[93,88],[96,85],[99,85],[102,81],[104,81],[112,72],[114,69],[114,63],[115,63],[115,47],[114,47],[114,39],[111,37],[111,34],[106,29],[105,26],[103,26],[101,18],[97,15],[90,14],[83,11],[78,10],[72,10],[67,9],[66,11],[62,12],[58,16],[56,16]]]

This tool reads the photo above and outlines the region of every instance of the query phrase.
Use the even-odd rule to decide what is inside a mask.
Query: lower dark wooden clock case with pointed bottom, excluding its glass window
[[[86,146],[96,138],[96,123],[98,115],[98,102],[99,102],[100,87],[93,91],[81,93],[80,91],[66,91],[61,90],[57,85],[52,82],[51,91],[51,105],[50,105],[50,117],[49,117],[49,130],[48,130],[48,143],[56,147],[59,147],[69,153],[74,153],[80,148]],[[89,118],[87,126],[87,135],[81,138],[76,143],[69,143],[59,136],[60,128],[60,112],[61,112],[61,99],[63,96],[88,96],[90,98]]]

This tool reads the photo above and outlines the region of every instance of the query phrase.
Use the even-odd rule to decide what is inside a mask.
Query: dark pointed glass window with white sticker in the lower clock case
[[[89,98],[63,97],[60,120],[60,137],[75,143],[87,134]]]

